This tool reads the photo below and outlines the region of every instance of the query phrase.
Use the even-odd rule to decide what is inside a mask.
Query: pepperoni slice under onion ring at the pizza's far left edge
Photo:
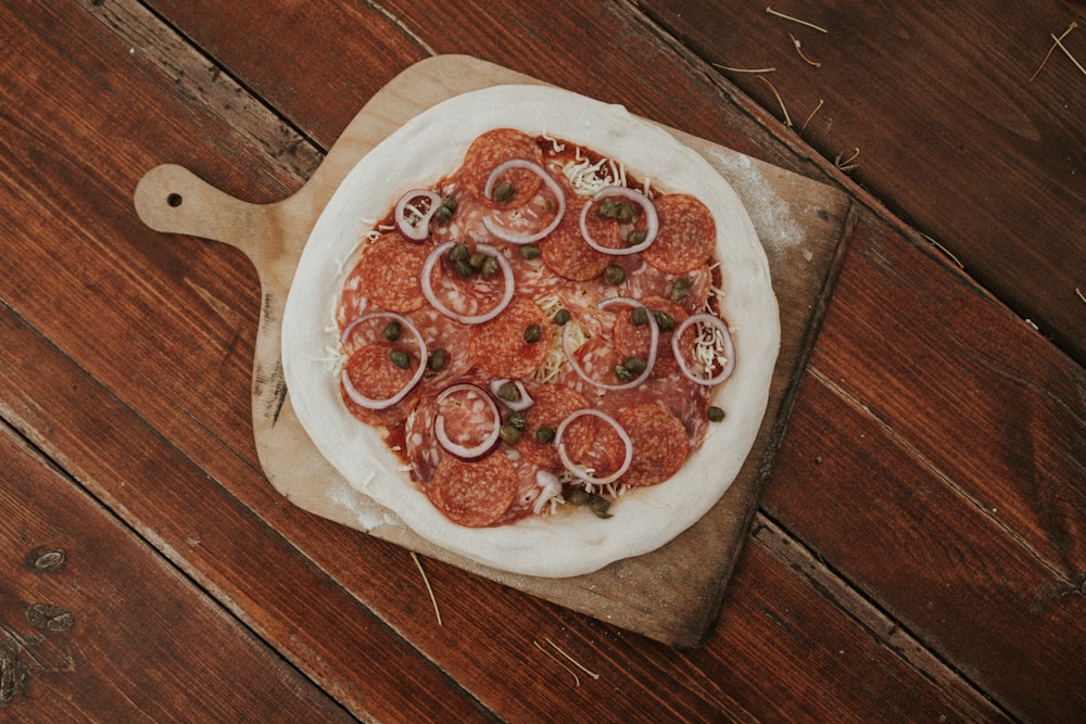
[[[397,347],[387,342],[372,342],[351,355],[344,369],[358,394],[370,399],[387,399],[411,383],[418,368],[418,358],[407,353],[408,367],[401,369],[389,357],[389,353],[394,348]],[[384,409],[369,409],[355,404],[348,396],[342,383],[340,383],[340,396],[351,415],[358,420],[366,424],[391,425],[407,418],[418,399],[418,390],[416,388],[406,397]]]

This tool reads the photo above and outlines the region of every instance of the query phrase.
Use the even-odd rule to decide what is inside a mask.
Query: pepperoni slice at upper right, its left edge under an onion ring
[[[708,261],[717,245],[712,212],[694,196],[669,193],[656,199],[660,228],[642,252],[645,261],[668,274],[686,274]]]

